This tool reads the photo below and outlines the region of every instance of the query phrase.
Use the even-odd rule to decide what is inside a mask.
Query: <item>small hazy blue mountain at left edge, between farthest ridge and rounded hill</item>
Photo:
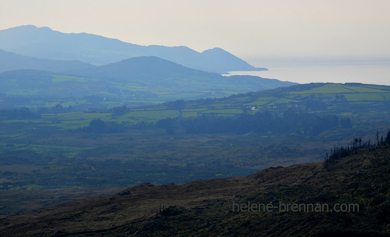
[[[69,70],[77,70],[90,67],[93,67],[93,65],[78,60],[66,61],[38,59],[29,56],[22,56],[0,49],[0,72],[17,69],[37,69],[62,73]]]

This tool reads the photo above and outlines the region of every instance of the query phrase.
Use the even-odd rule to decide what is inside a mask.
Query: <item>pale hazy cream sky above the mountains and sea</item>
[[[0,29],[34,24],[242,59],[390,57],[390,0],[0,0]]]

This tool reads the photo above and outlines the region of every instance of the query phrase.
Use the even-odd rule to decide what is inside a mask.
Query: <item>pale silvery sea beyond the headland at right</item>
[[[270,60],[250,62],[269,71],[234,71],[229,75],[252,75],[262,78],[311,82],[360,82],[390,85],[390,59],[386,60]],[[229,76],[225,75],[225,76]]]

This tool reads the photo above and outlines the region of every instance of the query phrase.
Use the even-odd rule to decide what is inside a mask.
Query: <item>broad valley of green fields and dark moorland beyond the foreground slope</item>
[[[245,176],[270,166],[321,161],[334,144],[348,144],[354,137],[374,139],[376,131],[385,133],[389,93],[388,86],[317,83],[138,108],[77,111],[57,101],[61,106],[51,103],[52,107],[37,110],[42,113],[28,119],[2,117],[0,193],[28,191],[37,196],[38,206],[44,206],[77,198],[80,190],[98,195],[143,182]],[[277,117],[289,110],[313,118],[348,118],[351,127],[331,127],[310,135],[294,130],[284,134],[191,134],[180,127],[156,126],[167,118],[235,119],[266,112]],[[96,119],[121,130],[99,133],[82,129]],[[62,194],[59,197],[67,198],[47,202],[41,190],[54,188]],[[28,209],[18,199],[4,199],[1,205],[2,214]]]

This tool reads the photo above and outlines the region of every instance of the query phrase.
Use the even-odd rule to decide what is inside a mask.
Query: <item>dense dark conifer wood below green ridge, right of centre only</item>
[[[157,128],[182,129],[187,134],[257,133],[280,135],[296,133],[315,136],[335,127],[352,127],[351,119],[339,119],[336,115],[316,116],[312,113],[286,110],[282,115],[272,112],[257,112],[254,115],[240,114],[234,117],[205,115],[194,118],[167,118],[156,122]]]

